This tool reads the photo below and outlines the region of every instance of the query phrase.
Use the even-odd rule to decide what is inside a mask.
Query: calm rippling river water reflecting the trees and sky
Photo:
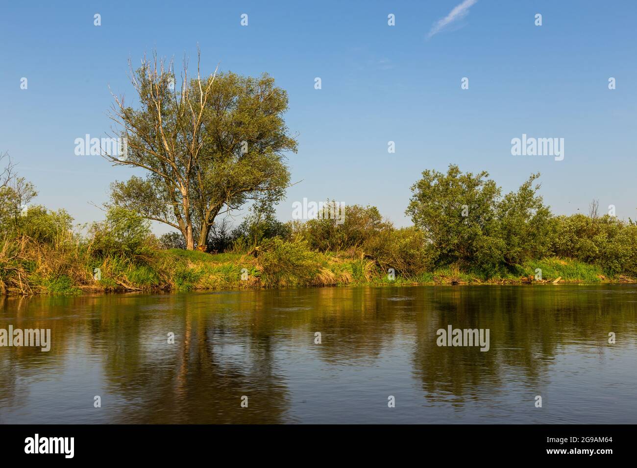
[[[637,422],[635,285],[0,298],[9,325],[51,344],[0,347],[0,423]]]

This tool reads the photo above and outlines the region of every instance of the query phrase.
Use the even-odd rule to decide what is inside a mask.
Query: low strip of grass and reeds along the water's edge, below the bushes
[[[404,275],[375,260],[347,254],[309,252],[282,244],[264,252],[204,253],[156,250],[134,257],[96,259],[70,246],[52,250],[25,243],[0,252],[0,290],[4,295],[125,291],[190,291],[345,285],[540,285],[634,282],[606,276],[599,266],[557,257],[527,262],[506,273],[484,273],[449,266]]]

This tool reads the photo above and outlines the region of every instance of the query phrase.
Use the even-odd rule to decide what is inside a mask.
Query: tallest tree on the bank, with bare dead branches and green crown
[[[285,153],[297,142],[283,121],[288,99],[268,74],[235,73],[189,78],[182,85],[173,64],[143,59],[132,70],[139,103],[115,96],[112,118],[125,154],[105,153],[117,166],[144,176],[111,185],[113,204],[182,232],[189,250],[205,245],[215,218],[248,201],[278,202],[289,185]]]

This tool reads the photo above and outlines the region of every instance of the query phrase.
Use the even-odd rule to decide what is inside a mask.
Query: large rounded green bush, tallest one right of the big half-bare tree
[[[505,197],[488,176],[450,165],[447,174],[424,171],[413,185],[406,213],[433,246],[436,265],[495,274],[550,252],[550,209],[533,187],[540,174]]]

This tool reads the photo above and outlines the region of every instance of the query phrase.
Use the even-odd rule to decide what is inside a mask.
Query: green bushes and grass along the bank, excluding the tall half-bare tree
[[[423,174],[408,208],[415,226],[396,229],[375,207],[359,205],[346,206],[344,217],[284,224],[266,198],[231,234],[225,223],[215,227],[208,246],[224,250],[234,238],[234,252],[213,254],[184,250],[179,234],[157,242],[148,220],[119,206],[83,238],[63,209],[21,209],[35,191],[11,178],[0,187],[0,293],[516,283],[538,268],[544,280],[637,278],[636,223],[596,210],[552,216],[534,185],[538,174],[504,197],[486,173],[450,166]]]

